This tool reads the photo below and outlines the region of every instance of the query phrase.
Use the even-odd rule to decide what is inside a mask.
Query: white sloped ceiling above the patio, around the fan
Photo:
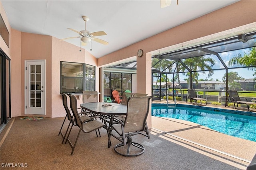
[[[87,30],[104,31],[97,38],[109,42],[102,45],[92,41],[83,47],[96,58],[117,51],[156,35],[162,31],[218,10],[238,0],[172,0],[160,8],[160,0],[1,0],[13,29],[50,35],[58,39],[79,36],[67,28],[84,30],[82,16],[88,16]],[[80,39],[66,40],[80,47]]]

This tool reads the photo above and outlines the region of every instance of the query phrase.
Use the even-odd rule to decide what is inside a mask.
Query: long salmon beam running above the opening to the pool
[[[241,0],[105,55],[98,59],[98,66],[136,56],[138,49],[143,49],[144,53],[150,53],[151,51],[254,23],[256,22],[255,6],[255,0]]]

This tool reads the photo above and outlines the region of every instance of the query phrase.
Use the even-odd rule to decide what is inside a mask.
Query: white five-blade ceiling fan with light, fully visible
[[[89,18],[87,16],[82,16],[82,18],[85,22],[85,29],[84,30],[76,31],[75,29],[68,28],[71,31],[74,31],[74,32],[78,33],[80,35],[80,37],[69,37],[69,38],[60,39],[60,41],[66,40],[66,39],[80,38],[81,41],[82,41],[82,45],[87,45],[87,43],[90,43],[92,40],[96,41],[98,43],[104,44],[104,45],[108,45],[107,41],[96,38],[96,36],[102,36],[102,35],[107,35],[107,34],[104,31],[98,31],[98,32],[91,33],[90,31],[86,30],[86,22],[89,21]]]

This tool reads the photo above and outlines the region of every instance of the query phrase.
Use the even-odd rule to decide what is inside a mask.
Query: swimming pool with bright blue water
[[[218,132],[256,142],[255,113],[228,111],[210,107],[178,105],[176,108],[166,104],[152,104],[152,116],[182,119],[204,125]]]

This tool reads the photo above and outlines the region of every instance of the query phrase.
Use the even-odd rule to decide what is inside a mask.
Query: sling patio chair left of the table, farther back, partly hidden
[[[67,96],[66,96],[66,94],[65,93],[62,93],[62,92],[60,92],[60,94],[62,95],[62,104],[63,104],[63,106],[64,106],[64,109],[65,109],[65,111],[66,111],[66,116],[65,116],[65,118],[64,118],[64,121],[63,121],[63,123],[62,123],[62,126],[61,126],[61,128],[60,128],[60,131],[59,131],[59,134],[58,135],[61,135],[62,136],[62,138],[63,138],[63,140],[62,140],[62,143],[64,142],[64,140],[65,140],[65,138],[66,138],[66,135],[67,135],[67,133],[68,133],[68,129],[69,129],[69,127],[70,127],[70,124],[73,124],[73,125],[75,125],[76,126],[76,124],[75,124],[75,122],[74,122],[74,117],[73,117],[73,115],[70,113],[70,109],[68,109],[68,98],[67,98]],[[82,111],[82,108],[78,108],[78,109],[81,109],[81,111]],[[90,113],[90,112],[80,112],[79,113],[80,115],[84,115],[82,118],[83,119],[88,119],[88,118],[90,118],[90,117],[93,117],[93,116],[95,116],[93,113]],[[88,116],[89,115],[89,116]],[[64,123],[65,123],[65,121],[66,121],[66,119],[68,118],[68,120],[69,120],[69,123],[68,123],[68,128],[66,129],[66,133],[65,133],[65,135],[62,133],[62,127],[63,127],[63,125],[64,125]],[[96,134],[97,134],[97,132],[96,132]],[[98,136],[98,134],[97,134],[97,136]]]

